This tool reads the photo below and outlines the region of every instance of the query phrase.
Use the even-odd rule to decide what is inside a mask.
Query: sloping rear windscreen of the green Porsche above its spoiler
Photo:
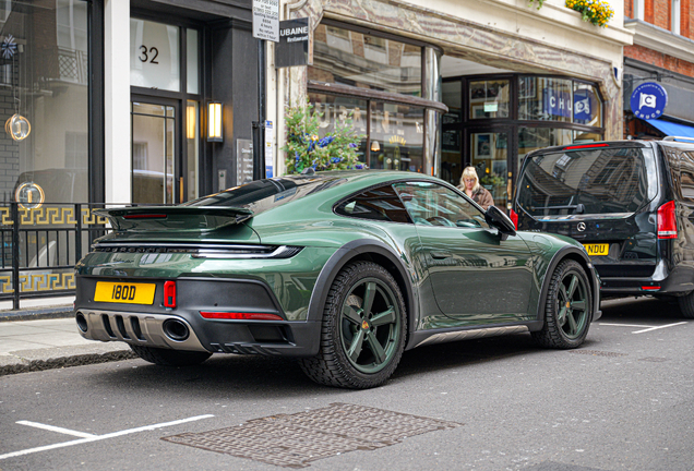
[[[256,180],[217,194],[203,196],[183,206],[225,206],[251,209],[254,215],[273,209],[290,201],[345,183],[335,176],[288,176]]]

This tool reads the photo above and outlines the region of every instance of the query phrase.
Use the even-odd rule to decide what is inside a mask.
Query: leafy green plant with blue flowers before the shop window
[[[306,106],[287,107],[287,145],[282,148],[286,153],[287,173],[300,173],[307,168],[316,171],[367,168],[358,159],[357,148],[362,136],[351,128],[351,113],[343,123],[336,121],[333,132],[320,137],[322,117],[309,101]]]

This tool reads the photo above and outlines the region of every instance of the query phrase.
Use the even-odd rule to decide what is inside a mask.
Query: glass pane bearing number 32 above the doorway
[[[178,26],[130,19],[130,85],[180,92]]]

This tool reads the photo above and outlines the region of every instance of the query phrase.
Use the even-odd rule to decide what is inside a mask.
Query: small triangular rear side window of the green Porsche
[[[384,185],[367,190],[340,203],[335,213],[342,216],[356,217],[392,222],[407,222],[412,220],[403,206],[403,202],[393,186]]]

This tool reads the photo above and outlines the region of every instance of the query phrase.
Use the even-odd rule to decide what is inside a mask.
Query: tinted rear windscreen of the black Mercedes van
[[[634,213],[656,196],[656,162],[648,148],[593,148],[529,158],[517,202],[531,216]]]

